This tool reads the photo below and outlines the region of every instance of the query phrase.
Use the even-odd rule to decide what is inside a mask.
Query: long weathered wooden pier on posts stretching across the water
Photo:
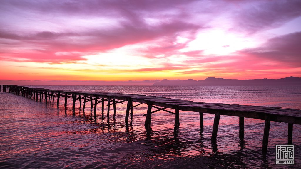
[[[101,103],[101,112],[104,112],[104,104],[107,103],[107,115],[110,113],[110,105],[113,105],[113,111],[116,112],[116,104],[127,101],[127,108],[125,114],[125,123],[128,124],[129,115],[133,114],[133,108],[141,104],[147,104],[147,112],[143,116],[145,118],[145,127],[151,124],[152,113],[158,111],[165,111],[175,115],[175,129],[180,126],[181,111],[199,112],[200,114],[200,128],[203,128],[203,113],[215,114],[213,122],[213,131],[211,141],[216,142],[217,131],[219,127],[220,115],[229,115],[239,117],[239,137],[244,139],[244,118],[256,118],[265,120],[265,128],[262,139],[262,152],[267,151],[268,135],[270,131],[270,122],[284,122],[288,123],[287,144],[293,143],[293,124],[301,124],[301,110],[299,109],[281,109],[281,107],[267,107],[267,106],[248,106],[238,104],[224,104],[224,103],[203,103],[193,102],[189,100],[171,99],[166,97],[147,96],[140,94],[122,94],[122,93],[98,93],[98,92],[82,92],[82,91],[57,91],[43,88],[28,88],[16,85],[0,85],[0,91],[9,92],[19,96],[42,102],[44,97],[45,103],[53,102],[56,98],[56,103],[59,105],[60,98],[64,98],[64,106],[67,106],[68,98],[72,98],[73,109],[75,108],[76,100],[80,106],[90,102],[91,109],[94,106],[94,114],[96,115],[97,105]],[[82,101],[83,100],[83,101]],[[93,104],[94,102],[94,104]],[[133,102],[137,104],[133,106]],[[152,111],[152,108],[156,110]],[[175,112],[166,110],[167,108],[174,109]]]

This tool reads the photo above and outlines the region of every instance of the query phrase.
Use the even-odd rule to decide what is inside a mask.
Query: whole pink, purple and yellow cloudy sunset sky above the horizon
[[[300,0],[2,0],[0,25],[2,81],[301,77]]]

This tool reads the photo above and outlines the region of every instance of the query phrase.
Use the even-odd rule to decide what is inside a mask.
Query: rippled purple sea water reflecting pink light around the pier
[[[301,86],[29,86],[57,90],[115,92],[164,96],[207,103],[280,106],[301,109]],[[301,126],[293,126],[295,164],[276,165],[275,145],[287,143],[287,124],[271,122],[267,155],[262,155],[264,121],[245,119],[245,138],[238,138],[237,117],[221,116],[217,143],[210,141],[214,115],[197,112],[152,115],[144,128],[146,106],[134,108],[129,128],[126,104],[107,118],[96,117],[87,104],[72,110],[0,92],[1,168],[301,168]],[[133,103],[135,105],[135,103]],[[111,107],[112,108],[112,107]],[[106,107],[105,107],[106,110]]]

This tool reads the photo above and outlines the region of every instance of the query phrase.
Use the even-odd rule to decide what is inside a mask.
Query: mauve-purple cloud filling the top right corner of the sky
[[[236,1],[237,3],[237,1]],[[242,6],[243,1],[240,5]],[[256,4],[257,3],[257,4]],[[233,30],[255,33],[275,28],[301,15],[301,1],[256,1],[238,8]]]

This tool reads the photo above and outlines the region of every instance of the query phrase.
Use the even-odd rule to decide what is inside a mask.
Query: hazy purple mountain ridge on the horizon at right
[[[247,85],[301,85],[301,78],[298,77],[287,77],[281,79],[249,79],[249,80],[238,80],[238,79],[225,79],[209,77],[205,80],[167,80],[157,81],[153,86],[206,86],[206,85],[225,85],[225,86],[247,86]]]

